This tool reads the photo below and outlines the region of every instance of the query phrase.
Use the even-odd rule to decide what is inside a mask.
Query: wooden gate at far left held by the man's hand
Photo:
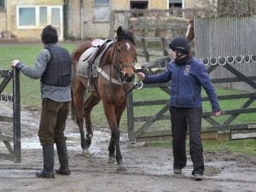
[[[7,153],[0,151],[0,159],[13,160],[15,163],[21,161],[20,149],[20,77],[17,69],[10,71],[0,68],[0,78],[3,78],[0,84],[0,99],[1,102],[13,102],[13,117],[0,116],[0,121],[13,124],[13,136],[5,135],[0,126],[0,141],[7,148]],[[12,95],[3,94],[3,90],[7,84],[13,79]],[[1,105],[2,103],[0,103]],[[11,144],[13,143],[13,145]]]

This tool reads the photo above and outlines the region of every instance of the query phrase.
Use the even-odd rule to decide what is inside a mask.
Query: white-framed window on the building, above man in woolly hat
[[[50,24],[61,25],[61,6],[18,6],[18,28],[43,28]]]

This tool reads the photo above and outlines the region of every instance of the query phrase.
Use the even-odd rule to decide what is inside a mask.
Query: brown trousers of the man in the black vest
[[[41,145],[51,145],[66,141],[64,130],[69,110],[69,102],[42,100],[42,112],[38,131]]]

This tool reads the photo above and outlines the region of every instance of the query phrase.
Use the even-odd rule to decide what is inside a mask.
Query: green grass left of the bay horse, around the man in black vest
[[[66,48],[70,53],[75,49],[77,44],[60,44]],[[14,59],[20,60],[29,67],[34,67],[36,58],[43,44],[6,44],[0,45],[0,63],[1,68],[11,69],[11,61]],[[6,89],[8,93],[11,92],[10,85]],[[23,106],[40,107],[41,92],[40,80],[30,79],[24,74],[20,73],[20,102]]]

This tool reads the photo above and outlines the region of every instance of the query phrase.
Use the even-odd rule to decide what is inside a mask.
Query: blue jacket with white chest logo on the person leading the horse
[[[204,64],[192,57],[185,65],[170,61],[166,71],[146,75],[146,84],[166,83],[172,80],[170,105],[177,108],[201,108],[201,87],[203,87],[212,104],[212,112],[220,111],[218,97]]]

